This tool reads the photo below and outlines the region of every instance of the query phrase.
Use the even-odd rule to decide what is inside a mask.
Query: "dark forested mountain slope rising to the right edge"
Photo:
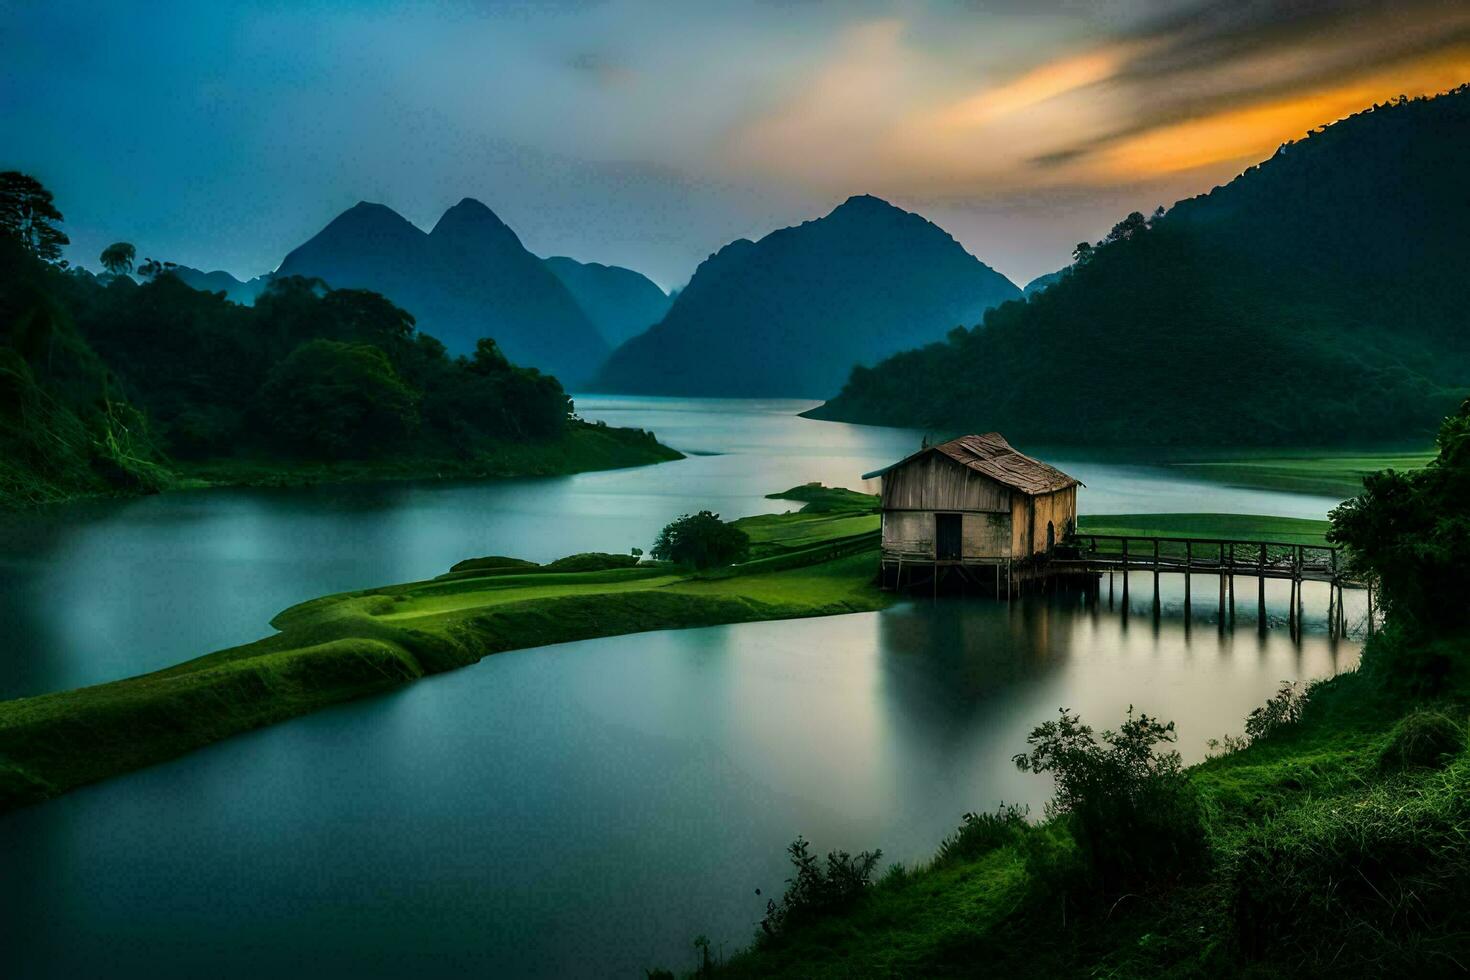
[[[1317,129],[810,414],[1032,442],[1427,442],[1470,382],[1467,134],[1470,87]]]

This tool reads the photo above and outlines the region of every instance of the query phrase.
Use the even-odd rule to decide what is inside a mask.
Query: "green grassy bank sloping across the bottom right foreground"
[[[1369,660],[1385,655],[1373,644]],[[1369,673],[1313,686],[1299,720],[1235,733],[1186,770],[1210,851],[1198,873],[1097,893],[1064,821],[1003,810],[960,827],[928,864],[891,867],[844,908],[714,973],[960,976],[983,964],[1017,977],[1276,977],[1383,976],[1395,964],[1460,976],[1470,692],[1426,702]]]

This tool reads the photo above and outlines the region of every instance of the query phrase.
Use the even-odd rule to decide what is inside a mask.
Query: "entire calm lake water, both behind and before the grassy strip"
[[[93,683],[260,636],[303,598],[444,570],[647,545],[679,513],[857,476],[917,433],[807,422],[803,403],[579,400],[698,453],[659,467],[478,485],[203,492],[6,526],[10,695]],[[716,454],[716,455],[710,455]],[[1333,501],[1057,461],[1086,513],[1320,517]],[[1273,586],[1279,583],[1272,583]],[[0,818],[0,974],[642,976],[732,949],[782,848],[932,854],[966,810],[1039,807],[1008,758],[1057,707],[1132,704],[1200,758],[1282,679],[1351,666],[1308,629],[1076,602],[911,602],[826,620],[623,636],[491,657]],[[1104,592],[1105,597],[1105,592]],[[1273,620],[1285,591],[1269,592]]]

